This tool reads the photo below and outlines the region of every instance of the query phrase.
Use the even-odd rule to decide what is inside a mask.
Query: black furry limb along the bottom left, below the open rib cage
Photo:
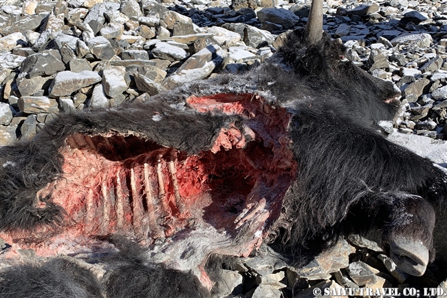
[[[197,277],[148,264],[144,248],[115,237],[119,253],[97,255],[88,263],[72,257],[12,266],[0,273],[0,297],[26,298],[206,298],[210,294]],[[107,274],[98,277],[90,263],[101,262]],[[213,268],[214,271],[216,269]],[[103,294],[105,293],[105,295]]]

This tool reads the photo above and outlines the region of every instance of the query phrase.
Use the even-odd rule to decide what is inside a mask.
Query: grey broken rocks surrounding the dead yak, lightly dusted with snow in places
[[[281,34],[305,25],[310,1],[295,1],[0,0],[0,145],[32,138],[60,112],[249,70],[275,52]],[[380,123],[384,132],[446,163],[447,1],[324,7],[324,29],[345,44],[347,58],[402,90],[402,113]],[[342,287],[447,292],[445,264],[408,277],[377,244],[355,236],[300,268],[267,246],[233,265],[216,297],[314,297],[315,288]]]

